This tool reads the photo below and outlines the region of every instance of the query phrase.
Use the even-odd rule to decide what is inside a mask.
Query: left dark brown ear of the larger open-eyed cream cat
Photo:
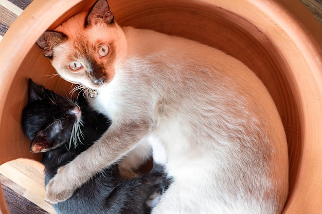
[[[45,31],[36,41],[43,54],[50,59],[53,56],[53,48],[67,40],[67,36],[56,31]]]

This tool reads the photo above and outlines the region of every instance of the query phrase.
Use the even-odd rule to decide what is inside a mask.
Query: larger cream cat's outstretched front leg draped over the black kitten
[[[71,197],[78,187],[98,171],[115,163],[134,148],[150,130],[150,121],[144,119],[112,123],[93,146],[58,170],[46,186],[46,201],[58,203]]]

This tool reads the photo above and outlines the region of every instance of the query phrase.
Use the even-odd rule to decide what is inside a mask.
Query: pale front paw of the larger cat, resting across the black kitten
[[[68,174],[64,172],[64,167],[60,167],[55,177],[53,177],[46,186],[45,200],[51,204],[65,201],[70,198],[75,188],[70,186],[67,180]]]

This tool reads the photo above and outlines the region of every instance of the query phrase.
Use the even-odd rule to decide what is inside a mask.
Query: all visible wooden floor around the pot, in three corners
[[[300,1],[322,25],[322,1]],[[0,41],[16,17],[31,2],[32,0],[0,0]],[[26,160],[6,163],[0,166],[0,179],[11,214],[56,213],[44,201],[44,174],[40,163]]]

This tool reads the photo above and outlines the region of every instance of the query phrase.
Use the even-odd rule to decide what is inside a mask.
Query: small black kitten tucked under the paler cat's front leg
[[[45,184],[60,166],[75,159],[109,127],[110,121],[93,111],[84,98],[73,101],[29,80],[28,104],[22,127],[32,140],[30,151],[43,152]],[[52,204],[58,214],[150,213],[170,180],[164,166],[130,181],[124,180],[117,164],[99,171],[64,202]]]

